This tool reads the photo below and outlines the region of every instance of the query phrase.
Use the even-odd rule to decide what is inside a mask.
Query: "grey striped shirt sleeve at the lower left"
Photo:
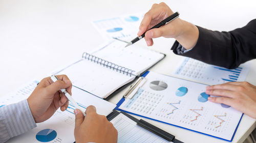
[[[0,143],[35,127],[27,99],[0,108]]]

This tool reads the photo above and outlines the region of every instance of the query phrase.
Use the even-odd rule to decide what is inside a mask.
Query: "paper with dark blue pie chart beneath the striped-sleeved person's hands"
[[[0,107],[27,99],[37,83],[36,80],[30,82],[14,93],[1,98]],[[116,106],[75,87],[72,88],[72,97],[84,110],[87,106],[94,105],[100,115],[109,115]],[[73,112],[74,106],[70,103],[67,110],[58,109],[47,121],[36,124],[37,127],[34,129],[11,138],[8,142],[74,142],[75,115]]]

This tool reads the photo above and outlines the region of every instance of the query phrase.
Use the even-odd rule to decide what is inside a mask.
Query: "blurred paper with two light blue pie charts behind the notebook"
[[[106,40],[118,38],[125,41],[131,41],[134,37],[137,37],[143,16],[144,13],[128,14],[119,17],[95,20],[92,24]]]

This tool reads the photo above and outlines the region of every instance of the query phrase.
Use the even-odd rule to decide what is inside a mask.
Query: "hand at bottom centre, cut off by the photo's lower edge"
[[[117,130],[105,116],[98,115],[94,106],[86,109],[86,117],[83,117],[79,109],[74,110],[75,139],[77,143],[84,142],[117,142]]]

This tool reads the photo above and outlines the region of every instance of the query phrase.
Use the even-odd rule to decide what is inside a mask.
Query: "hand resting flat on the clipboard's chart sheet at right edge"
[[[206,94],[215,103],[223,103],[256,119],[256,87],[248,82],[227,82],[206,87]]]

